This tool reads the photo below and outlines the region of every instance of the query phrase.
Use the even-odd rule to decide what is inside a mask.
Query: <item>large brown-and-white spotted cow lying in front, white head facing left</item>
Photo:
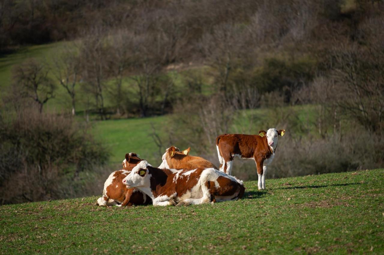
[[[160,169],[146,161],[138,163],[122,182],[147,194],[154,206],[235,200],[245,190],[242,181],[214,168]]]

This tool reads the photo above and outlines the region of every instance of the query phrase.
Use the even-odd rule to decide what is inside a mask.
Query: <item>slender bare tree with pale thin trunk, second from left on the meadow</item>
[[[72,115],[74,116],[76,114],[76,92],[74,87],[78,83],[81,74],[78,49],[73,44],[65,46],[63,51],[54,57],[53,63],[55,69],[52,72],[56,80],[71,97]]]

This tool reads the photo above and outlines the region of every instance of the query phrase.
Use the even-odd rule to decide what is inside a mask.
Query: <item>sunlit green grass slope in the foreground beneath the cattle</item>
[[[384,253],[384,169],[266,185],[188,207],[104,208],[96,196],[0,206],[0,253]]]

